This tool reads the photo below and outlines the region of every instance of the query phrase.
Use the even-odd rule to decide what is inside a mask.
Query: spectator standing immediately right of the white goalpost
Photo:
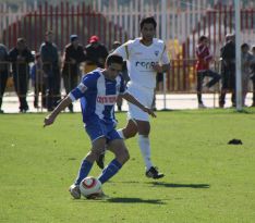
[[[248,79],[253,63],[253,55],[248,52],[250,46],[243,44],[241,46],[241,71],[242,71],[242,106],[245,106],[245,97],[248,91]]]

